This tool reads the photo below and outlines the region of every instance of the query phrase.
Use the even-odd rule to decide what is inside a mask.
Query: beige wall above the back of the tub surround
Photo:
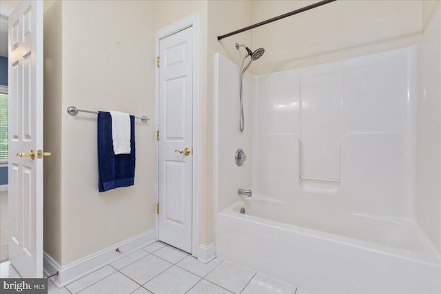
[[[317,1],[253,1],[253,23]],[[253,30],[254,74],[401,48],[418,41],[421,1],[336,1]]]

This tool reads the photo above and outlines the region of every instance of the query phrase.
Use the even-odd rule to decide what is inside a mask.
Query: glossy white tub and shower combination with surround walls
[[[441,34],[439,14],[433,26]],[[438,87],[422,80],[432,72],[421,73],[441,58],[441,42],[427,50],[430,38],[344,61],[245,72],[243,132],[232,119],[240,113],[239,66],[216,54],[218,257],[312,293],[441,293],[433,242],[441,224],[420,227],[416,209],[424,202],[420,87]],[[247,156],[240,166],[237,149]]]

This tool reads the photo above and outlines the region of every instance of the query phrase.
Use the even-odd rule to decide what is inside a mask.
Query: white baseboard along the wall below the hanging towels
[[[156,229],[152,229],[65,266],[60,266],[50,255],[43,253],[44,274],[49,276],[58,271],[59,275],[51,277],[50,280],[61,288],[121,258],[121,253],[129,254],[155,241]],[[121,253],[117,253],[116,248],[119,248]]]

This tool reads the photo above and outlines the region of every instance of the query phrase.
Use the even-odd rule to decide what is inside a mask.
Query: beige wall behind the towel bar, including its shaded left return
[[[45,251],[65,265],[154,228],[155,24],[150,1],[59,4],[45,13],[45,145],[61,162],[46,169],[57,182],[45,176],[56,210],[45,210]],[[133,187],[98,192],[96,116],[69,116],[69,105],[152,118],[136,122]]]

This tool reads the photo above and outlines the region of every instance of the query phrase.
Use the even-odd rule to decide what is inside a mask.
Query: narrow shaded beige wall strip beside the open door
[[[50,6],[44,14],[44,149],[52,156],[44,160],[44,251],[61,261],[61,107],[62,59],[61,2]]]

